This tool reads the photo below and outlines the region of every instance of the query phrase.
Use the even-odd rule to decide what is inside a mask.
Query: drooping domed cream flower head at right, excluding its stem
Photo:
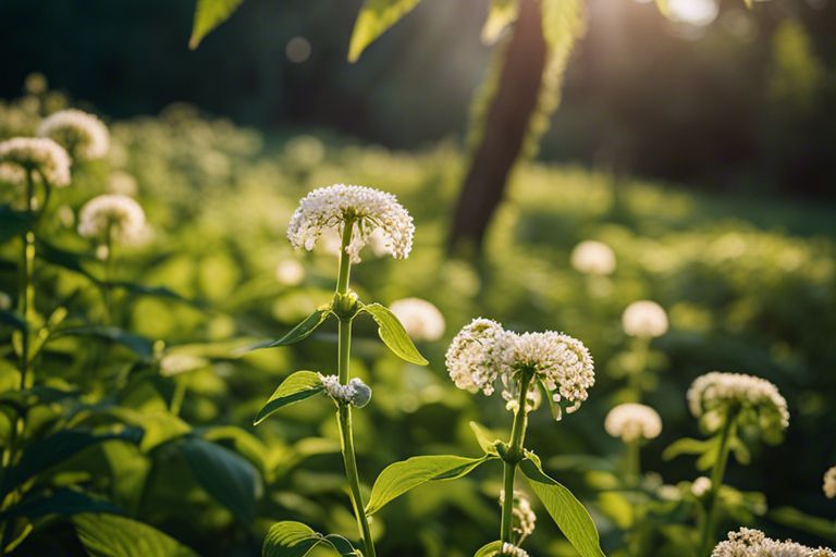
[[[770,443],[780,441],[789,425],[787,401],[778,388],[752,375],[713,371],[697,377],[687,397],[691,413],[710,433],[720,429],[729,411],[737,412],[741,425],[759,429]]]

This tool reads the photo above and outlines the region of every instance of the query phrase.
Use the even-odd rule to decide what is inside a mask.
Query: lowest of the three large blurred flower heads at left
[[[78,234],[85,238],[104,240],[108,231],[123,244],[142,239],[145,212],[139,203],[127,196],[104,195],[94,197],[78,215]]]

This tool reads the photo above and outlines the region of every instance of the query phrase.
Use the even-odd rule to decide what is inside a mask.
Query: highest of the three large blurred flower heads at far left
[[[46,117],[38,135],[49,137],[81,160],[101,159],[108,154],[108,127],[93,114],[81,110],[61,110]]]

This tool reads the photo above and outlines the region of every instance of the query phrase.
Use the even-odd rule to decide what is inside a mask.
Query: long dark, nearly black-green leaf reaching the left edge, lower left
[[[26,447],[21,460],[3,475],[0,494],[5,495],[29,478],[97,443],[120,440],[137,445],[142,438],[143,431],[138,428],[125,428],[112,433],[93,433],[84,430],[59,431]]]

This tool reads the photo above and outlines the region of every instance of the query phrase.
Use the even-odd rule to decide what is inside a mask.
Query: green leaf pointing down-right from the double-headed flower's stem
[[[606,557],[589,512],[569,490],[549,478],[529,459],[519,463],[531,491],[543,504],[563,535],[581,557]]]

